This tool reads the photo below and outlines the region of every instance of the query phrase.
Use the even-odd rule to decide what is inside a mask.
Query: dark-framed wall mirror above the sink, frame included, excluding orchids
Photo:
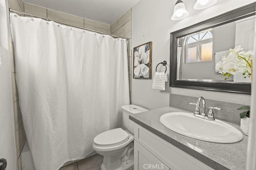
[[[253,50],[255,3],[170,33],[170,86],[250,94],[251,78],[215,70],[229,49]]]

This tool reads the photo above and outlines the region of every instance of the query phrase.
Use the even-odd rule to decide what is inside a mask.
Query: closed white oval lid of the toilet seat
[[[129,134],[121,128],[105,131],[97,135],[93,142],[100,146],[113,146],[124,143],[128,140]]]

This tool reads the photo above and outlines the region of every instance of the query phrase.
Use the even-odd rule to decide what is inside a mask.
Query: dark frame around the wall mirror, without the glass
[[[254,16],[255,10],[256,3],[252,3],[170,33],[170,87],[251,94],[251,83],[177,80],[177,40],[180,37],[184,37],[198,31],[214,28],[249,16]]]

